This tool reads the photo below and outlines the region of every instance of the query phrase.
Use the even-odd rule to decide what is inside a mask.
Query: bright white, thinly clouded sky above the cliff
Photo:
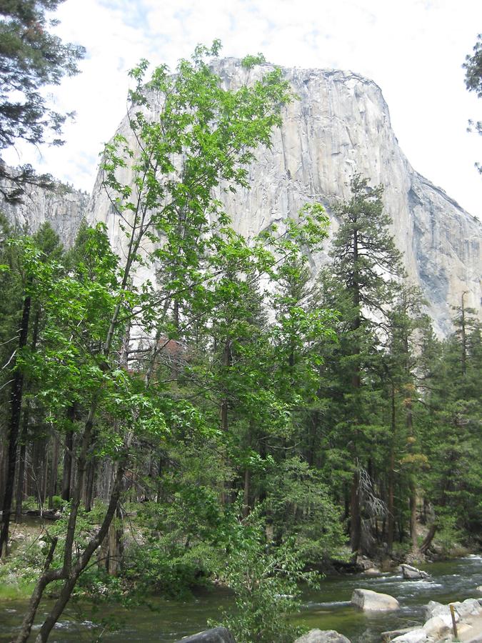
[[[461,67],[482,31],[480,0],[66,0],[54,16],[83,44],[81,74],[55,88],[76,111],[66,144],[3,154],[91,191],[102,144],[126,109],[126,71],[141,58],[173,69],[198,43],[221,39],[224,56],[263,52],[282,66],[351,69],[376,81],[413,167],[482,219],[482,99]]]

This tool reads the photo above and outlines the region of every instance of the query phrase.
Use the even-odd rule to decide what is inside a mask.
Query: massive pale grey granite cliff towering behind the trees
[[[236,59],[216,61],[215,66],[226,87],[251,81],[269,68],[246,71]],[[383,201],[408,275],[421,286],[438,331],[450,331],[450,306],[459,305],[464,292],[466,306],[480,315],[481,221],[411,167],[391,129],[381,89],[350,71],[283,71],[298,98],[286,109],[281,129],[273,132],[271,149],[258,149],[250,169],[251,189],[220,193],[236,229],[251,236],[273,221],[296,214],[306,201],[319,201],[330,215],[333,232],[338,226],[333,204],[348,196],[348,181],[358,171],[373,184],[383,185]],[[127,119],[119,130],[129,138]],[[129,168],[123,171],[123,179],[128,179]],[[61,236],[71,241],[79,219],[72,207],[67,206],[62,220],[49,212],[47,197],[38,199],[34,194],[31,200],[37,210],[32,227],[51,219]],[[121,249],[121,235],[100,175],[86,216],[104,221],[114,247]],[[311,257],[315,271],[326,261],[328,244],[326,251]]]

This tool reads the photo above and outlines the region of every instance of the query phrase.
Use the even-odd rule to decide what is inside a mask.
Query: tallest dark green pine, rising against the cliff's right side
[[[346,332],[341,340],[343,369],[348,377],[345,423],[351,427],[353,479],[350,490],[351,548],[361,547],[361,465],[366,458],[363,426],[369,424],[371,384],[363,381],[376,336],[393,301],[394,285],[403,274],[401,253],[388,231],[390,217],[383,209],[381,186],[371,188],[359,174],[351,180],[351,199],[336,214],[340,227],[333,239],[331,296],[339,298]],[[368,394],[368,398],[366,397]],[[375,420],[376,421],[376,420]]]

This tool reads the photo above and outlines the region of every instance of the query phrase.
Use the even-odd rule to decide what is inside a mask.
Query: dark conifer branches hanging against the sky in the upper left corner
[[[64,0],[7,0],[0,6],[0,152],[17,141],[61,145],[66,119],[49,105],[46,86],[59,85],[65,76],[79,73],[84,47],[64,43],[51,30],[58,21],[49,16]],[[25,184],[51,188],[49,175],[37,175],[31,166],[11,172],[0,164],[0,177],[11,181],[4,198],[21,200]]]

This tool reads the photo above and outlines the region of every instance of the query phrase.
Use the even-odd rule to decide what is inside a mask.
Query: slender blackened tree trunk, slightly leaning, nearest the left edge
[[[27,336],[29,334],[31,298],[26,296],[24,299],[24,308],[21,316],[21,327],[19,337],[20,351],[26,346]],[[9,452],[7,459],[7,475],[4,493],[4,502],[2,503],[1,532],[0,532],[0,557],[6,554],[9,544],[9,525],[11,514],[11,502],[14,496],[14,479],[16,468],[16,450],[19,442],[19,428],[21,416],[21,400],[24,389],[24,374],[20,369],[14,372],[14,379],[11,385],[10,397],[10,423],[9,423]]]

